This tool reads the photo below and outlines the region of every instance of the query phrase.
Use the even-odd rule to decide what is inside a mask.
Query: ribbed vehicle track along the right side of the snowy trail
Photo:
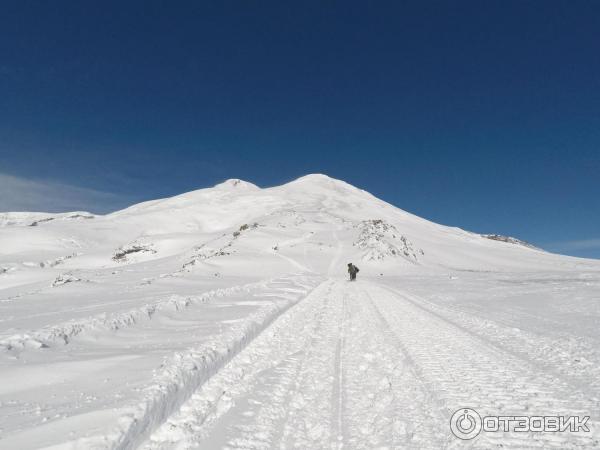
[[[407,298],[376,286],[371,290],[375,305],[448,413],[471,406],[481,414],[591,415],[592,420],[597,416],[597,410],[590,411],[590,402],[561,380],[488,345]],[[598,440],[593,433],[485,433],[474,444],[590,448],[597,446]]]

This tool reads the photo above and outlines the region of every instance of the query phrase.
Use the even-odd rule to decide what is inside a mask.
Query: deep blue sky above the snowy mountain
[[[600,2],[3,2],[0,210],[312,172],[600,257]]]

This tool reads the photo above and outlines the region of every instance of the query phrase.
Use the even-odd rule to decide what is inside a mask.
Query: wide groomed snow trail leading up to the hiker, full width
[[[452,413],[591,415],[590,433],[455,438]],[[594,414],[596,413],[596,414]],[[596,448],[598,400],[428,310],[414,295],[328,280],[203,384],[143,446]]]

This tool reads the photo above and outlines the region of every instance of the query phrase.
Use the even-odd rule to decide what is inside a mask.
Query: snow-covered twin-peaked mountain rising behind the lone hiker
[[[261,260],[270,270],[339,271],[344,262],[367,270],[536,270],[590,264],[529,248],[519,240],[478,235],[416,217],[343,181],[308,175],[260,189],[227,180],[209,189],[89,213],[5,213],[0,264],[19,283],[47,271],[123,268],[160,262],[236,273]],[[35,227],[35,228],[33,228]],[[338,265],[331,264],[337,258]],[[244,261],[252,261],[244,268]],[[37,267],[39,266],[39,267]],[[208,270],[208,267],[205,267]],[[32,274],[32,272],[37,272]],[[52,274],[54,275],[54,273]]]

